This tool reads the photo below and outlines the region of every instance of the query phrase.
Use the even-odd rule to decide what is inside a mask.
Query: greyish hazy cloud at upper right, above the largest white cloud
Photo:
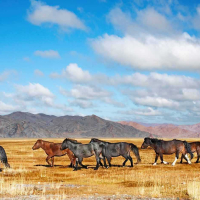
[[[173,23],[152,7],[136,10],[134,14],[137,15],[135,19],[131,17],[131,13],[125,13],[117,7],[110,11],[107,19],[116,29],[135,37],[141,37],[143,34],[171,35],[177,31]]]

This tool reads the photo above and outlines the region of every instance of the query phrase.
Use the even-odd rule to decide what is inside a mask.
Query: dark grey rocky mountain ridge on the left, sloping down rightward
[[[148,137],[150,133],[133,126],[102,119],[96,115],[53,116],[15,112],[0,116],[0,137],[63,138],[63,137]]]

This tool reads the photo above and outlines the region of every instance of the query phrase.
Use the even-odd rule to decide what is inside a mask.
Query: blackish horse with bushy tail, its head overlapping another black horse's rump
[[[96,138],[92,138],[90,143],[104,144],[102,156],[107,159],[109,167],[112,166],[110,162],[111,158],[118,156],[123,156],[126,159],[123,162],[123,166],[125,166],[126,162],[130,160],[131,167],[133,167],[133,159],[130,156],[130,151],[132,151],[135,154],[137,158],[137,163],[141,162],[138,148],[132,143],[126,143],[126,142],[110,143]],[[105,159],[104,159],[104,166],[107,167]]]

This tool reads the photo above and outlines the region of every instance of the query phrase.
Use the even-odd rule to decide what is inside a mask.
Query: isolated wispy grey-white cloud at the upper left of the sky
[[[31,0],[31,7],[27,19],[34,25],[58,25],[62,30],[86,30],[84,23],[71,11],[60,9],[59,6],[49,6],[41,1]]]

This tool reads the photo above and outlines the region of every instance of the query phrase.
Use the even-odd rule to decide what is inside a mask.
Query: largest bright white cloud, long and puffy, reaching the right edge
[[[199,70],[200,40],[187,33],[177,38],[134,38],[105,34],[91,42],[108,60],[140,70]]]

